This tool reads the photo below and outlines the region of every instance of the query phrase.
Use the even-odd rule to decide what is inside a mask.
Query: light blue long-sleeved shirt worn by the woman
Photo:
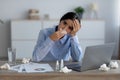
[[[72,37],[66,34],[58,41],[49,38],[55,32],[55,27],[40,30],[36,46],[33,51],[33,61],[56,61],[63,59],[68,61],[81,61],[83,57],[82,49],[77,36]]]

